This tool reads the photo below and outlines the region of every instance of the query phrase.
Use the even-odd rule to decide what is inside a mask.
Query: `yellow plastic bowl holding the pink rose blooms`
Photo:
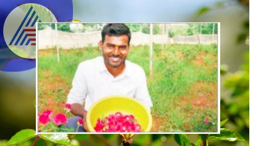
[[[141,125],[142,132],[149,132],[152,128],[152,116],[142,103],[130,97],[109,96],[100,99],[89,109],[86,116],[86,124],[89,131],[95,132],[94,127],[98,118],[106,117],[116,112],[132,114]]]

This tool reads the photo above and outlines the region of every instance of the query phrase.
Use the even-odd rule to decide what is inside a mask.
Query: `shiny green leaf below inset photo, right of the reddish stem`
[[[67,134],[41,134],[40,138],[62,145],[70,145]]]

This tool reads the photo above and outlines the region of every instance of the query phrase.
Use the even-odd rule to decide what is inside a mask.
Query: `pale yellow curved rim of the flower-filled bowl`
[[[130,99],[130,100],[133,100],[135,102],[137,102],[138,104],[140,104],[141,106],[144,107],[144,109],[147,111],[147,114],[148,114],[148,126],[147,128],[142,131],[142,132],[150,132],[151,128],[152,128],[152,115],[150,113],[150,110],[148,110],[148,108],[146,106],[144,106],[139,100],[136,100],[132,97],[129,97],[129,96],[124,96],[124,95],[111,95],[111,96],[107,96],[107,97],[104,97],[98,101],[96,101],[91,107],[90,109],[88,110],[87,112],[87,115],[86,115],[86,125],[88,127],[88,130],[89,132],[96,132],[94,130],[94,128],[92,127],[92,124],[91,124],[91,121],[90,121],[90,115],[91,115],[91,111],[92,111],[92,108],[94,108],[99,102],[103,101],[103,100],[106,100],[106,99],[111,99],[111,98],[125,98],[125,99]],[[120,133],[120,132],[119,132]]]

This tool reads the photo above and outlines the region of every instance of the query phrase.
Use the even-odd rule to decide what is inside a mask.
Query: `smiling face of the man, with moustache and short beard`
[[[130,46],[128,36],[105,36],[104,43],[100,41],[100,50],[103,53],[105,62],[111,67],[119,67],[124,63]]]

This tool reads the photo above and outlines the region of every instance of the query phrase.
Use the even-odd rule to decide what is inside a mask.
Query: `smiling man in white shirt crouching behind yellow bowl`
[[[67,99],[71,112],[76,116],[68,119],[68,128],[76,129],[77,120],[86,120],[92,104],[110,95],[135,98],[149,110],[153,106],[144,70],[125,60],[130,50],[130,40],[131,32],[124,24],[107,24],[103,27],[99,43],[103,56],[81,62],[76,70]],[[86,121],[78,132],[84,130],[88,131]]]

